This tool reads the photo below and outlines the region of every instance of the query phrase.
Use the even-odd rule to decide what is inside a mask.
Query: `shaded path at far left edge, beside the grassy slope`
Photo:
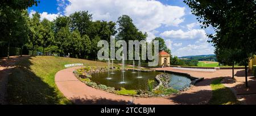
[[[20,61],[20,59],[27,58],[27,55],[23,57],[11,56],[10,59],[2,58],[0,59],[0,105],[7,104],[5,97],[6,94],[6,85],[8,83],[8,76],[10,70],[15,67],[15,63]]]

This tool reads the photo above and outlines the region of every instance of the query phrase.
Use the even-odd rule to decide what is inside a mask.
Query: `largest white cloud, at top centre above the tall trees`
[[[61,0],[59,0],[61,1]],[[68,0],[65,15],[75,11],[89,11],[94,20],[116,21],[121,15],[129,15],[143,32],[151,32],[164,26],[177,26],[184,21],[185,7],[163,5],[149,0]],[[152,32],[154,34],[154,32]]]

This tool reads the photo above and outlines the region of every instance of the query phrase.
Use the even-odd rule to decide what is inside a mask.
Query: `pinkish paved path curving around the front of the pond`
[[[197,78],[205,79],[192,86],[188,91],[181,92],[181,94],[176,96],[138,98],[131,96],[120,96],[89,87],[79,81],[75,75],[73,75],[73,71],[77,68],[79,67],[67,68],[57,72],[55,75],[55,83],[57,87],[65,97],[73,101],[75,104],[207,104],[212,96],[212,90],[210,88],[210,83],[212,80],[221,76],[226,77],[227,75],[232,75],[232,70],[218,70],[216,72],[192,72],[175,70],[171,67],[156,68],[156,70],[182,72]],[[242,70],[235,70],[235,74],[240,72],[242,72]],[[244,79],[242,76],[237,76],[236,78],[241,81]],[[251,81],[251,79],[249,79],[249,81]],[[234,84],[233,86],[236,85]],[[230,88],[233,86],[230,85]]]

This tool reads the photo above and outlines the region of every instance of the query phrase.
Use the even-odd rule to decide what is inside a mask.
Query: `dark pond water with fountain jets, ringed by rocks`
[[[108,87],[114,87],[115,89],[120,89],[121,87],[128,90],[148,90],[148,80],[155,80],[155,76],[161,74],[162,72],[152,71],[152,72],[138,72],[135,71],[114,71],[113,74],[108,74],[108,72],[101,72],[92,75],[92,81],[97,84],[104,84]],[[122,76],[124,74],[124,76]],[[108,78],[109,75],[109,78]],[[182,89],[187,87],[191,80],[182,75],[168,74],[171,78],[170,86],[175,89]],[[124,78],[123,78],[124,77]],[[124,80],[125,83],[122,83]],[[158,83],[155,83],[156,87]]]

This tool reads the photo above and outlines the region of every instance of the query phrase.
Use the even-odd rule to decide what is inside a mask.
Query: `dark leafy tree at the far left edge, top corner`
[[[38,1],[7,1],[3,0],[0,2],[0,44],[5,44],[7,42],[7,57],[9,58],[10,44],[15,41],[14,36],[19,35],[18,33],[23,33],[24,30],[21,29],[21,24],[23,21],[22,14],[23,10],[32,5],[37,5]],[[19,32],[20,31],[20,32]],[[25,35],[26,36],[26,35]],[[16,39],[16,38],[15,38]],[[23,37],[19,37],[18,41],[26,40]],[[15,41],[17,42],[17,41]]]

